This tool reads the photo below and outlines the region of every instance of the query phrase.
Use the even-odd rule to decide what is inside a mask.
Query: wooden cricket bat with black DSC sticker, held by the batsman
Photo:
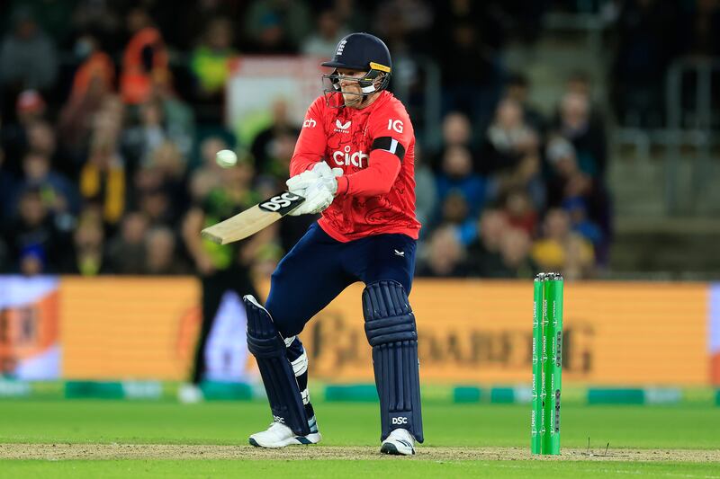
[[[201,235],[203,238],[217,244],[239,241],[272,225],[275,221],[302,205],[303,201],[305,199],[300,195],[293,194],[290,191],[281,191],[275,196],[257,203],[254,207],[247,208],[234,217],[229,217],[216,225],[206,227],[202,230]]]

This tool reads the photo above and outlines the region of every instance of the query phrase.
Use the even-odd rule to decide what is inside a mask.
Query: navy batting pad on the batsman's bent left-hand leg
[[[293,366],[287,359],[285,342],[277,333],[266,308],[255,297],[243,297],[247,311],[247,350],[257,359],[257,368],[273,411],[280,421],[299,436],[310,434]]]

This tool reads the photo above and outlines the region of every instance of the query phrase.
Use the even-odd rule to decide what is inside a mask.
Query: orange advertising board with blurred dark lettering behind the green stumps
[[[362,289],[347,288],[306,326],[311,375],[373,382]],[[529,382],[531,282],[417,280],[410,305],[423,381]],[[566,383],[709,384],[706,284],[567,282],[564,330]]]

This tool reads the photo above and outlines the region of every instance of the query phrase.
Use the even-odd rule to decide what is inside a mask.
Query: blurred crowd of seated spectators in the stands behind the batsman
[[[607,267],[612,241],[608,111],[577,72],[556,111],[544,115],[528,101],[527,76],[501,62],[507,42],[537,39],[546,10],[576,4],[588,2],[4,2],[0,272],[208,271],[217,252],[193,244],[189,212],[208,222],[222,205],[237,211],[281,189],[299,133],[280,100],[249,141],[223,127],[229,62],[245,54],[330,57],[347,32],[372,31],[394,58],[432,58],[442,72],[442,139],[418,137],[417,274],[591,277]],[[624,82],[614,110],[651,121],[652,94],[640,104],[637,92],[652,90],[653,68],[667,65],[646,51],[669,41],[672,16],[664,2],[612,4]],[[698,0],[688,12],[714,12],[700,25],[710,30],[693,31],[712,31],[717,8],[707,4],[715,5]],[[716,49],[717,38],[689,48]],[[238,152],[237,166],[215,163],[224,148]],[[239,245],[234,260],[267,275],[314,219],[280,222]]]

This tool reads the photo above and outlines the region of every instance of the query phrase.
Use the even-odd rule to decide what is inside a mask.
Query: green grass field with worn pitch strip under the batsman
[[[0,401],[0,475],[720,477],[716,406],[563,405],[563,456],[539,459],[527,405],[425,404],[409,458],[377,454],[377,404],[316,407],[322,444],[276,451],[246,446],[269,423],[261,403]]]

